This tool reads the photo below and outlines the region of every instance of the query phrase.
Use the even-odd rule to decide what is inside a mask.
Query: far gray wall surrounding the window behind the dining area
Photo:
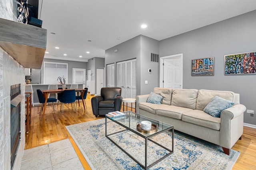
[[[44,59],[44,61],[47,62],[54,62],[54,63],[68,63],[68,81],[67,84],[72,84],[73,82],[73,68],[83,68],[86,69],[87,63],[85,62],[77,62],[77,61],[64,61],[64,60],[53,60],[53,59]],[[44,74],[44,61],[42,63],[42,74]],[[54,74],[54,73],[53,73]],[[56,80],[58,76],[62,75],[56,75]],[[40,70],[36,69],[34,74],[32,76],[26,76],[27,79],[31,78],[32,83],[39,83],[40,84]],[[42,80],[43,83],[43,80]]]

